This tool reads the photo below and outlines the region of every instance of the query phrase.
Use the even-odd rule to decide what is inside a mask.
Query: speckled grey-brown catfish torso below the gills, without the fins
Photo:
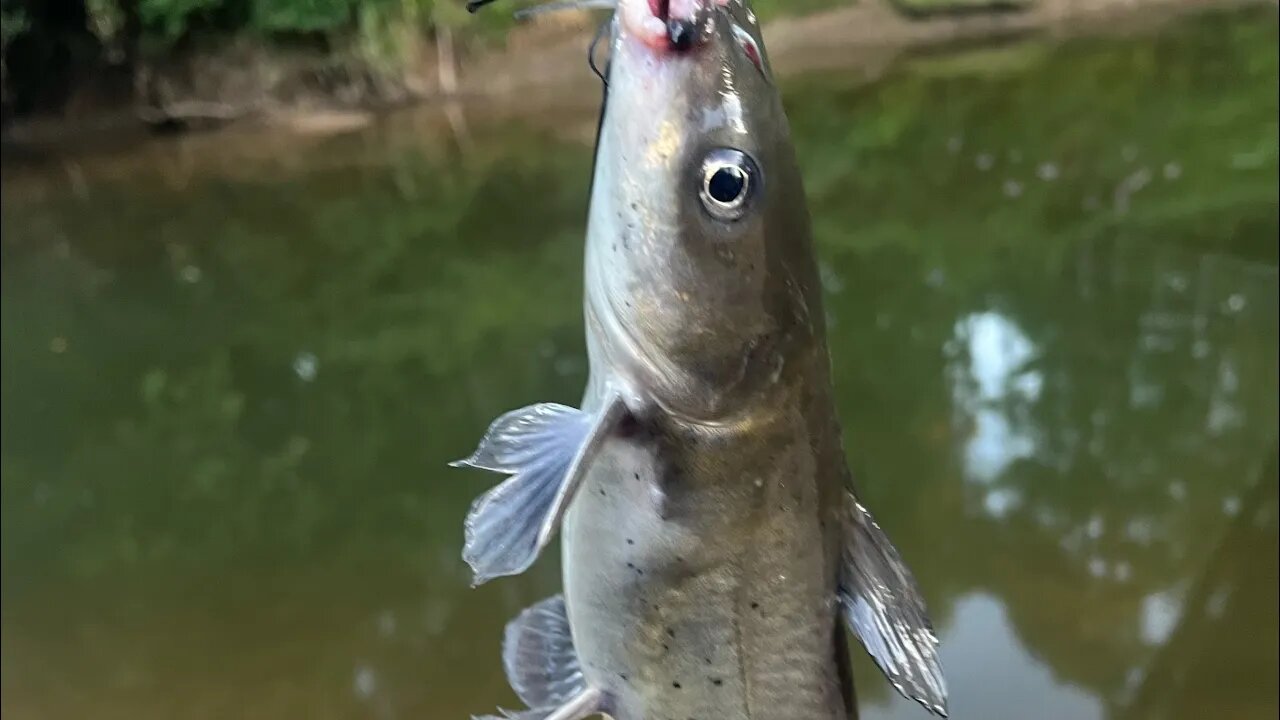
[[[828,493],[795,446],[605,445],[566,518],[564,594],[616,720],[849,717]]]

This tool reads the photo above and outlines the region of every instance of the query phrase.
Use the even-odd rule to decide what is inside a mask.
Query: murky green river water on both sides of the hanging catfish
[[[955,717],[1277,712],[1276,35],[786,83],[854,471]],[[515,705],[502,625],[557,560],[468,589],[494,479],[444,462],[579,397],[593,120],[6,158],[5,717]]]

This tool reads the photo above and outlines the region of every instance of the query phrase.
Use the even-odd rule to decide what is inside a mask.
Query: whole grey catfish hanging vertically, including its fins
[[[477,582],[562,532],[563,597],[507,628],[517,716],[855,716],[846,625],[945,714],[914,580],[852,495],[755,18],[740,0],[621,0],[611,36],[582,406],[504,415],[462,461],[511,475],[467,519]]]

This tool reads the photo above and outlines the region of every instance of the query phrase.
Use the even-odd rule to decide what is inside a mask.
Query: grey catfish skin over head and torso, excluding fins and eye
[[[686,53],[635,37],[627,12],[591,195],[584,410],[618,392],[632,419],[564,519],[573,643],[617,720],[849,717],[836,587],[847,470],[763,42],[736,3],[701,12]],[[699,197],[717,147],[762,176],[727,223]]]

